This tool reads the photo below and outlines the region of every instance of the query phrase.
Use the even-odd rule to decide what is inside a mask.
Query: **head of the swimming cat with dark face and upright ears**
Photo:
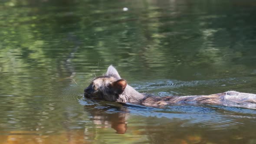
[[[105,75],[92,80],[91,84],[85,88],[85,98],[101,99],[105,101],[117,101],[126,87],[127,83],[121,79],[117,70],[110,65]]]

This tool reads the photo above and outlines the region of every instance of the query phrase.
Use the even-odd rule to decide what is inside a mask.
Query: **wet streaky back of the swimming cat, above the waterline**
[[[213,95],[189,95],[189,96],[146,96],[141,103],[149,106],[164,106],[171,104],[213,104],[239,107],[255,107],[256,95],[250,93],[228,91]]]

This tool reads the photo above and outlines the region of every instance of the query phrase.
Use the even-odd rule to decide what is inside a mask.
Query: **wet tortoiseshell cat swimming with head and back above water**
[[[214,104],[256,108],[256,95],[228,91],[213,95],[190,96],[152,96],[137,92],[124,79],[121,79],[117,70],[110,65],[105,75],[95,78],[84,90],[85,98],[115,101],[119,103],[137,103],[147,106],[164,106],[171,104]]]

